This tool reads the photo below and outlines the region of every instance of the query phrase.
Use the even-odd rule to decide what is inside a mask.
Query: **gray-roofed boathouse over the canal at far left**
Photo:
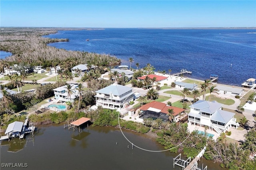
[[[8,125],[4,134],[8,135],[8,137],[20,137],[22,133],[24,133],[24,123],[14,121]]]

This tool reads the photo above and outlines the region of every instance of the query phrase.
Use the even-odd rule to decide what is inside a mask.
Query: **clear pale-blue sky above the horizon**
[[[256,27],[256,0],[0,0],[1,27]]]

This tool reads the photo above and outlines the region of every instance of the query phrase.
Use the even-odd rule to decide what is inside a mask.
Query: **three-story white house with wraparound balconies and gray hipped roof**
[[[126,107],[130,101],[133,101],[132,88],[120,84],[112,84],[96,91],[96,106],[102,106],[106,109],[117,109]]]

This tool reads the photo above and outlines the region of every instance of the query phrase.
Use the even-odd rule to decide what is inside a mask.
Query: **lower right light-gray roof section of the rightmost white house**
[[[222,123],[228,123],[235,113],[218,109],[211,117],[211,120]]]

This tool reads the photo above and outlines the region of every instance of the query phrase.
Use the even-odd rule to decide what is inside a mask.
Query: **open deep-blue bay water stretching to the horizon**
[[[130,66],[133,57],[140,68],[147,63],[156,70],[182,68],[191,78],[205,80],[218,74],[218,83],[240,86],[256,78],[256,29],[124,29],[58,31],[50,38],[68,42],[49,44],[60,49],[115,55]],[[90,39],[90,41],[86,41]],[[231,67],[232,64],[232,67]]]

